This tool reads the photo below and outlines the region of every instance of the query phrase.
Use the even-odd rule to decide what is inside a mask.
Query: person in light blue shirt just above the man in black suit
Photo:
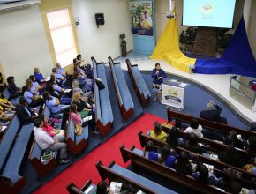
[[[37,95],[34,93],[31,93],[31,85],[27,85],[23,87],[24,90],[24,97],[28,103],[29,107],[38,107],[38,106],[42,106],[43,104],[43,100],[41,99],[41,95]]]

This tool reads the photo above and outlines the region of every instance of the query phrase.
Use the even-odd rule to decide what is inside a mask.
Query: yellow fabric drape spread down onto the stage
[[[196,59],[184,56],[184,54],[179,50],[177,18],[169,19],[150,58],[164,59],[167,63],[178,70],[191,72],[189,65],[195,64]]]

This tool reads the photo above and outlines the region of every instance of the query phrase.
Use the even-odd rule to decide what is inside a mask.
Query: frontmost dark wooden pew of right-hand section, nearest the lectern
[[[241,134],[245,138],[249,138],[250,136],[256,136],[256,133],[252,131],[241,130],[237,127],[233,127],[228,124],[216,123],[216,122],[208,121],[203,118],[188,116],[183,113],[173,111],[170,108],[167,109],[167,116],[168,116],[168,122],[171,122],[172,119],[177,118],[181,122],[190,123],[192,118],[196,118],[199,120],[199,123],[200,125],[202,125],[203,128],[206,128],[210,131],[217,131],[225,135],[230,134],[231,131],[237,131],[237,134]]]

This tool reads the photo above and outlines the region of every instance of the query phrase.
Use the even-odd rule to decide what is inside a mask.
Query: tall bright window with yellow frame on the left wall
[[[77,55],[69,11],[68,9],[51,11],[46,15],[56,61],[64,67],[71,64]]]

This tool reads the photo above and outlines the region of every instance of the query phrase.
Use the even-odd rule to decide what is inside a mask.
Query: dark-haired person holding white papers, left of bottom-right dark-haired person
[[[222,177],[218,178],[212,172],[209,173],[208,168],[202,163],[195,166],[195,172],[192,173],[192,176],[200,183],[209,183],[217,187],[222,186]]]

